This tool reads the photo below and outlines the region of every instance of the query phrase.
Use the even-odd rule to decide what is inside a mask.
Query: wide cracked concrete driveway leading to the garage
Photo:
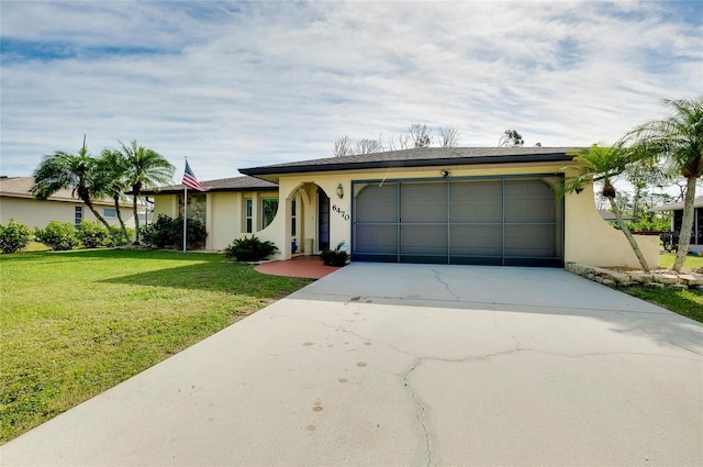
[[[560,269],[352,264],[1,464],[703,465],[703,326]]]

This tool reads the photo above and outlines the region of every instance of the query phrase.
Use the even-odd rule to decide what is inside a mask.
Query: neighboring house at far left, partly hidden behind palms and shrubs
[[[70,222],[97,221],[88,207],[70,190],[58,190],[46,201],[38,201],[30,193],[34,185],[32,177],[0,177],[0,224],[7,225],[14,219],[30,229],[44,229],[51,221]],[[114,202],[111,199],[97,200],[96,210],[110,223],[120,225]],[[125,225],[134,227],[132,203],[125,202],[120,208]]]

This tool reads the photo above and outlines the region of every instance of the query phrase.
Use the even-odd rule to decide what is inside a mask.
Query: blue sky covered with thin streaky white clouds
[[[180,182],[413,123],[459,146],[614,143],[703,94],[701,1],[0,0],[0,175],[120,141]]]

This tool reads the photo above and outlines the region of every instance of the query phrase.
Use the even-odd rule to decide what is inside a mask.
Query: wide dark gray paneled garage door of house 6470
[[[353,260],[562,266],[559,177],[354,184]]]

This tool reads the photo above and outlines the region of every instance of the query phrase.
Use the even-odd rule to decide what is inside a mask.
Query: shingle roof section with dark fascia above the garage
[[[573,147],[420,147],[241,168],[246,175],[294,174],[386,167],[570,162]]]

